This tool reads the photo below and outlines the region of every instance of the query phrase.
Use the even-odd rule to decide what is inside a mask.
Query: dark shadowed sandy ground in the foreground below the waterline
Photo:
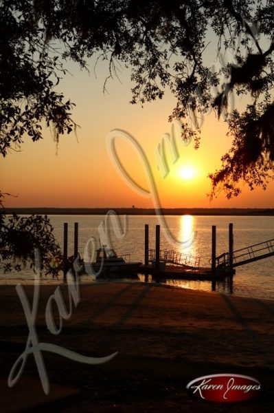
[[[1,412],[273,411],[274,301],[102,282],[70,294],[67,285],[41,286],[35,305],[34,286],[17,289],[0,288]],[[64,349],[96,360],[117,354],[91,365]],[[185,388],[226,372],[255,377],[262,396],[212,403]]]

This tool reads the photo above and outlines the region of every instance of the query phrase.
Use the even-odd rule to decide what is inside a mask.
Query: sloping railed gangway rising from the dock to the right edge
[[[245,248],[233,251],[232,267],[249,264],[258,260],[264,260],[274,255],[274,238],[272,240],[253,244]],[[229,267],[229,253],[223,253],[216,257],[216,268]]]

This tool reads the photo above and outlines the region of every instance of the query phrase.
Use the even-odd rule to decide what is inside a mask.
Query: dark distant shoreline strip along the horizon
[[[113,210],[117,215],[274,215],[274,209],[259,208],[5,208],[2,213],[20,215],[105,215]]]

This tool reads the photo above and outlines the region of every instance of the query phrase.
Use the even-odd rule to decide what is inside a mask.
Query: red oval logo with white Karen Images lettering
[[[241,374],[210,374],[190,381],[187,390],[198,399],[231,403],[254,399],[262,392],[262,384]]]

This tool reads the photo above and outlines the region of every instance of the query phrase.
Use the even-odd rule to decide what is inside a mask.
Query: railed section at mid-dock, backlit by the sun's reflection
[[[160,261],[165,262],[165,264],[187,266],[195,270],[200,268],[201,257],[179,253],[174,250],[160,250],[159,253]],[[155,262],[155,260],[156,249],[148,250],[148,262]]]

